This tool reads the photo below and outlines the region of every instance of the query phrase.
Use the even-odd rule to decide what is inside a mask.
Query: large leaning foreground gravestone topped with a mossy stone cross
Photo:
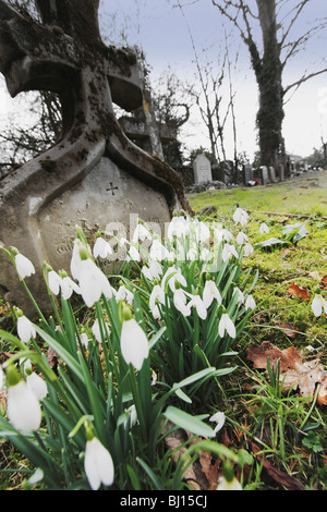
[[[0,244],[33,261],[28,287],[47,307],[43,263],[69,271],[76,224],[94,242],[108,224],[128,230],[138,216],[164,228],[174,208],[191,209],[179,175],[135,146],[113,114],[112,101],[130,111],[142,105],[143,78],[134,53],[104,45],[98,0],[35,3],[40,23],[0,0],[0,71],[13,97],[29,89],[57,93],[63,133],[0,181]],[[2,251],[0,294],[35,313]]]

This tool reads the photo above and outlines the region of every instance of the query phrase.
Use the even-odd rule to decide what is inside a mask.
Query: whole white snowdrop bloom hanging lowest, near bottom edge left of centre
[[[113,461],[109,451],[94,437],[86,441],[84,471],[93,490],[101,484],[111,486],[114,478]]]

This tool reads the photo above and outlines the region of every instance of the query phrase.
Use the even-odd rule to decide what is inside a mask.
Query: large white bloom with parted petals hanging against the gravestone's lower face
[[[107,298],[112,297],[112,289],[107,277],[90,258],[82,259],[80,263],[78,285],[87,307],[99,301],[101,294]]]

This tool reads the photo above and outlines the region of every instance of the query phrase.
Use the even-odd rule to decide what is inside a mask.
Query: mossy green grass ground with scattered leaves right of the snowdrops
[[[228,422],[217,440],[255,455],[245,475],[247,488],[327,490],[326,403],[303,400],[298,392],[280,393],[246,356],[253,343],[268,341],[279,350],[293,346],[303,361],[319,357],[326,368],[327,318],[314,318],[308,297],[317,285],[325,297],[327,293],[327,171],[282,184],[208,191],[189,199],[196,211],[216,206],[218,220],[239,203],[250,211],[246,233],[252,243],[270,237],[284,242],[286,228],[304,224],[298,242],[257,247],[244,260],[244,266],[258,270],[256,303],[266,302],[251,319],[247,334],[238,340],[238,369],[221,381],[215,405],[226,412]],[[262,222],[269,234],[259,234]],[[8,305],[2,301],[0,307],[0,328],[12,328]],[[1,352],[10,350],[4,346]],[[4,440],[0,461],[0,488],[23,489],[28,463]],[[17,471],[7,473],[10,468]]]

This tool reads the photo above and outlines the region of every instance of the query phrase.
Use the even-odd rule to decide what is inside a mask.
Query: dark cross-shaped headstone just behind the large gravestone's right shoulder
[[[177,141],[177,130],[157,122],[149,90],[144,90],[142,107],[137,115],[119,119],[124,133],[145,151],[164,160],[162,144]]]

